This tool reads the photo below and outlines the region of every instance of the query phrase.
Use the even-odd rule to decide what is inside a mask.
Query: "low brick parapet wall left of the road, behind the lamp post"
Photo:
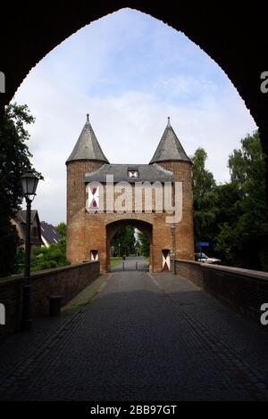
[[[33,272],[30,279],[32,317],[48,314],[47,296],[63,295],[63,304],[65,304],[99,275],[98,261]],[[0,278],[0,303],[4,304],[5,308],[5,325],[0,325],[0,339],[17,331],[20,327],[22,285],[22,275]]]

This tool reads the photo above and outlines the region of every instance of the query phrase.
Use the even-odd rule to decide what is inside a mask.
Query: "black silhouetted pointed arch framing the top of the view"
[[[5,5],[0,38],[1,71],[6,92],[0,94],[0,115],[24,78],[56,45],[88,23],[121,8],[145,12],[183,32],[199,45],[230,78],[259,127],[264,152],[268,155],[268,94],[261,92],[261,73],[267,69],[267,5],[251,2],[148,2],[111,0],[92,4],[88,0],[46,2],[39,11],[29,2]],[[242,10],[241,10],[242,9]],[[40,95],[42,93],[40,92]]]

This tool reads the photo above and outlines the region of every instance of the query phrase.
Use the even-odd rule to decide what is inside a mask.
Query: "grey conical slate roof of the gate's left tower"
[[[100,160],[109,163],[101,146],[98,144],[96,135],[89,122],[88,114],[86,124],[66,163],[72,160]]]

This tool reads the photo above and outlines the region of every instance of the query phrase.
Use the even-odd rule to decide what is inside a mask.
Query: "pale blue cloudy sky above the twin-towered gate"
[[[41,220],[66,218],[66,168],[89,113],[112,163],[147,163],[167,117],[188,155],[202,146],[218,182],[255,122],[218,65],[180,32],[123,9],[58,45],[14,96],[36,118],[29,127],[33,165],[45,177],[33,207]]]

